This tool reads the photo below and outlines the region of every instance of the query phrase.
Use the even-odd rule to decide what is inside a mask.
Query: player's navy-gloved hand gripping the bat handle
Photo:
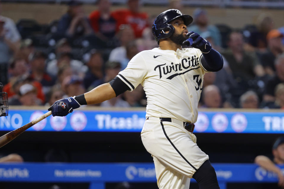
[[[48,110],[51,111],[52,116],[66,116],[73,112],[74,109],[80,107],[80,104],[74,97],[57,100]]]

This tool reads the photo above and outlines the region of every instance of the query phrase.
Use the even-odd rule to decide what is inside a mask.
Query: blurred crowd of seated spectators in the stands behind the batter
[[[157,15],[141,12],[139,0],[115,11],[109,0],[98,0],[89,15],[79,1],[67,6],[36,33],[0,12],[0,81],[10,105],[49,106],[82,94],[111,81],[138,52],[158,47],[151,31]],[[170,6],[182,9],[179,0]],[[224,59],[222,70],[205,74],[199,107],[284,108],[284,27],[276,29],[264,14],[257,25],[240,29],[210,24],[204,9],[192,15],[188,30],[210,41]],[[100,106],[146,106],[146,96],[140,85]]]

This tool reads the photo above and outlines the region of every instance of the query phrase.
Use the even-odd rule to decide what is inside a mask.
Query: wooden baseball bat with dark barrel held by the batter
[[[27,130],[28,128],[30,128],[31,126],[35,125],[36,123],[40,122],[41,120],[43,120],[44,118],[47,118],[49,115],[51,115],[51,111],[43,114],[42,116],[32,120],[30,123],[25,124],[22,127],[19,127],[17,129],[15,129],[14,131],[11,131],[3,136],[0,137],[0,148],[2,146],[4,146],[5,144],[9,143],[10,141],[12,141],[14,138],[16,138],[17,136],[19,136],[22,132],[24,132],[25,130]]]

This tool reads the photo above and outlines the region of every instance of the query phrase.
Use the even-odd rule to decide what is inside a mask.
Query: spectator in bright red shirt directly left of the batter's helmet
[[[113,12],[117,21],[117,31],[120,25],[129,24],[134,30],[135,38],[141,38],[143,30],[147,27],[148,14],[139,11],[139,0],[128,0],[127,5],[128,9]]]

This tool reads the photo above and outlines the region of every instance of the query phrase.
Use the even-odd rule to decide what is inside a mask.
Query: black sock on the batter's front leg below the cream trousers
[[[193,178],[198,183],[199,189],[219,189],[217,176],[214,167],[209,160],[206,160],[193,174]]]

